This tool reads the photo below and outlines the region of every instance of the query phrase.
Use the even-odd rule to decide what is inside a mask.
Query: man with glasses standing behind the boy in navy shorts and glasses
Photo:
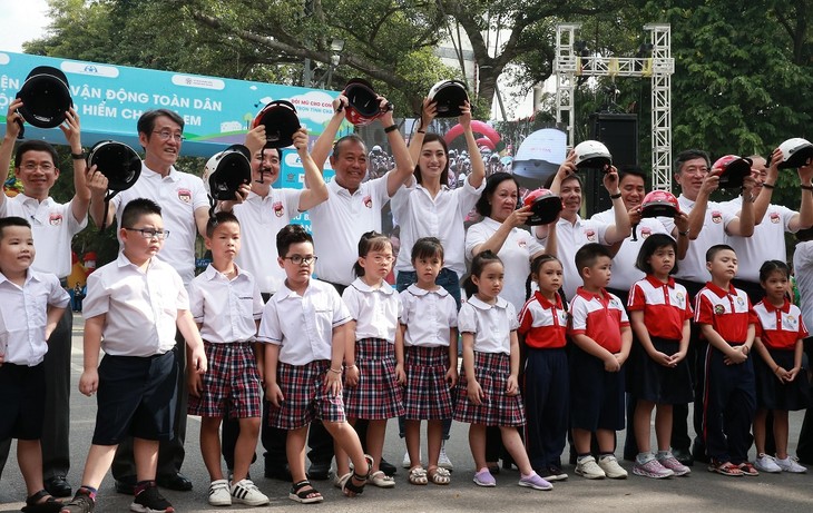
[[[184,140],[184,119],[167,109],[148,110],[138,119],[138,142],[144,148],[141,175],[136,184],[110,199],[107,219],[115,215],[120,228],[121,213],[133,199],[147,198],[161,207],[164,226],[173,234],[166,239],[158,258],[172,265],[188,286],[195,277],[195,239],[206,233],[209,201],[203,180],[188,172],[178,171],[175,162]],[[90,174],[90,216],[100,226],[105,216],[107,178],[101,172]],[[186,349],[183,337],[176,338],[178,373],[178,403],[175,412],[175,436],[161,441],[158,451],[157,482],[169,490],[192,490],[192,481],[180,473],[184,463],[186,438]],[[133,460],[133,438],[121,443],[112,462],[116,491],[131,494],[136,485],[136,466]]]

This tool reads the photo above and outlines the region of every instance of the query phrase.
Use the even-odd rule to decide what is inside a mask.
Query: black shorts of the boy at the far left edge
[[[0,365],[0,440],[40,440],[46,414],[46,367]]]

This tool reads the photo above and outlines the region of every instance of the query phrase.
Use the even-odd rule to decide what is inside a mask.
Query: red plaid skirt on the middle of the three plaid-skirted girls
[[[452,394],[445,381],[449,347],[404,348],[406,388],[403,392],[404,418],[444,421],[454,414]]]

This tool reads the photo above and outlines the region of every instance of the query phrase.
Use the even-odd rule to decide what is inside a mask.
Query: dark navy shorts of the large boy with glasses
[[[95,445],[117,445],[127,436],[172,440],[178,364],[163,355],[110,356],[99,365]]]

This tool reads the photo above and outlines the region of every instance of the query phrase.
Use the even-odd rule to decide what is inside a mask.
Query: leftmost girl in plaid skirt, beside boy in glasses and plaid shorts
[[[366,447],[373,457],[370,482],[389,489],[395,481],[381,470],[386,420],[403,415],[401,385],[403,338],[398,319],[401,300],[384,278],[392,268],[392,244],[379,233],[369,231],[359,241],[359,260],[353,266],[357,278],[342,294],[350,315],[350,331],[355,344],[345,348],[344,410],[353,424],[370,421]],[[336,473],[350,472],[347,457],[336,451]],[[343,479],[343,477],[340,477]]]

